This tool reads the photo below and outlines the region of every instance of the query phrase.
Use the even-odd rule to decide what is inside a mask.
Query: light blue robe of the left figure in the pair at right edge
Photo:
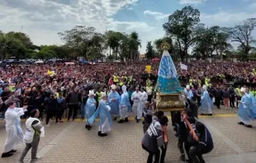
[[[239,110],[238,115],[240,119],[243,119],[244,121],[250,120],[250,99],[249,95],[243,95],[241,99],[241,103],[239,104]]]

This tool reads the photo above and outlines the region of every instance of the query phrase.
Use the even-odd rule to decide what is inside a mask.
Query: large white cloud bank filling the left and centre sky
[[[0,30],[21,31],[35,44],[60,44],[58,32],[73,26],[94,26],[98,31],[149,31],[145,22],[121,22],[111,17],[138,0],[2,0],[0,4]]]

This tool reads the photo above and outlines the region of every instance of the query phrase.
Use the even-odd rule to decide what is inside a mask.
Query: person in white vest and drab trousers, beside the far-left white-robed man
[[[30,118],[26,119],[26,133],[24,136],[24,142],[26,147],[21,153],[20,162],[24,163],[24,158],[28,151],[31,149],[31,163],[40,160],[40,156],[36,156],[37,148],[39,145],[40,137],[45,136],[45,129],[39,119],[40,115],[38,109],[33,109],[30,113]]]

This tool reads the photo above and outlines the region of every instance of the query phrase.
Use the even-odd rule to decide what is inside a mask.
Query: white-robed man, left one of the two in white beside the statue
[[[133,101],[132,105],[132,111],[135,114],[136,122],[140,122],[140,118],[142,117],[142,108],[141,108],[141,99],[142,99],[142,93],[139,91],[139,87],[137,86],[135,88],[135,92],[131,95],[131,100]]]

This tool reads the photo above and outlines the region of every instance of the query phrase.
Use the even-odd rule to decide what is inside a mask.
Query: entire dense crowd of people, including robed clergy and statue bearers
[[[221,66],[220,66],[221,64]],[[201,115],[212,115],[214,103],[220,109],[221,101],[225,109],[238,107],[242,102],[244,107],[253,107],[251,95],[241,88],[233,88],[225,85],[229,77],[234,81],[254,82],[255,63],[205,63],[197,61],[197,64],[187,64],[188,70],[178,67],[180,80],[186,79],[187,86],[181,99],[186,103],[186,115],[200,137],[187,133],[186,123],[181,115],[172,112],[172,125],[177,131],[178,147],[181,151],[181,160],[185,160],[183,144],[187,152],[188,162],[204,162],[202,155],[213,149],[211,133],[203,123],[197,121],[198,106],[201,106]],[[145,72],[146,65],[151,65],[151,72]],[[0,74],[0,112],[2,119],[9,122],[7,142],[2,157],[12,156],[16,151],[12,133],[17,134],[16,141],[23,139],[20,129],[20,116],[26,119],[26,148],[22,152],[20,161],[23,162],[27,151],[32,147],[32,161],[37,161],[36,149],[39,143],[40,133],[44,132],[40,122],[45,120],[45,126],[50,127],[50,119],[55,119],[56,124],[63,123],[62,119],[75,120],[86,119],[85,128],[90,130],[93,122],[100,117],[97,135],[106,137],[111,130],[113,119],[118,123],[127,123],[129,112],[135,114],[135,121],[143,121],[145,133],[142,147],[149,152],[148,162],[164,162],[165,152],[168,147],[166,126],[168,118],[163,113],[155,112],[154,86],[157,80],[159,63],[145,61],[135,63],[99,63],[95,65],[63,65],[47,64],[40,66],[13,66],[1,69]],[[214,79],[217,78],[216,83]],[[225,79],[225,80],[223,80]],[[249,89],[248,89],[249,90]],[[246,94],[246,95],[247,95]],[[235,105],[235,101],[237,105]],[[243,103],[244,102],[244,103]],[[22,108],[23,107],[23,108]],[[36,111],[35,111],[36,110]],[[253,109],[252,109],[253,110]],[[254,112],[252,112],[254,113]],[[241,122],[250,128],[250,115],[239,112]],[[247,116],[248,115],[248,116]],[[15,119],[12,119],[12,118]],[[18,120],[16,119],[18,117]],[[28,118],[28,119],[27,119]],[[31,126],[38,133],[29,133]],[[17,130],[13,127],[17,126]],[[33,127],[35,127],[33,126]],[[34,128],[32,128],[34,129]],[[27,133],[28,132],[28,133]],[[22,134],[21,134],[22,133]],[[186,133],[186,134],[185,134]],[[8,134],[10,137],[8,137]],[[154,134],[154,137],[151,137]],[[22,136],[21,136],[22,135]],[[186,137],[184,137],[184,135]],[[27,138],[29,137],[29,138]],[[197,139],[190,142],[189,138]],[[157,143],[155,143],[154,140]],[[207,140],[207,141],[206,141]],[[152,141],[152,142],[150,142]],[[198,144],[197,142],[201,142]],[[160,151],[159,151],[160,150]],[[159,161],[158,161],[159,159]]]

